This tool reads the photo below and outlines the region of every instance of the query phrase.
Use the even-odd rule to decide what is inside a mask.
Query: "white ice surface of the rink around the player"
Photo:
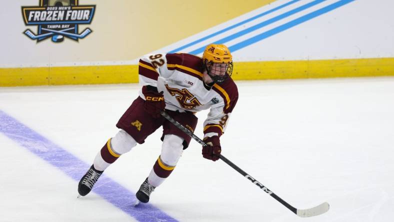
[[[300,218],[191,141],[151,204],[180,221],[392,221],[394,78],[238,81],[222,154],[297,208]],[[136,84],[0,88],[0,110],[90,164],[137,96]],[[206,112],[198,113],[202,136]],[[138,189],[161,129],[105,174]],[[0,133],[0,221],[134,221]],[[116,192],[116,190],[113,190]]]

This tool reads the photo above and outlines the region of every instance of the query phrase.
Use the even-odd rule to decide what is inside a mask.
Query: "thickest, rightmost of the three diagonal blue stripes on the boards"
[[[272,29],[270,29],[268,31],[265,31],[265,32],[263,32],[261,34],[258,34],[258,35],[254,36],[254,37],[251,37],[249,39],[246,39],[244,41],[236,43],[236,44],[228,47],[228,49],[230,49],[231,52],[236,51],[236,50],[238,50],[240,48],[246,47],[246,46],[248,46],[250,44],[253,44],[253,43],[257,42],[257,41],[260,41],[260,40],[262,40],[264,38],[267,38],[269,36],[272,36],[274,34],[282,32],[282,31],[284,31],[286,29],[294,27],[295,25],[303,23],[303,22],[305,22],[305,21],[307,21],[309,19],[317,17],[317,16],[319,16],[321,14],[324,14],[324,13],[326,13],[328,11],[331,11],[331,10],[333,10],[335,8],[343,6],[343,5],[345,5],[345,4],[347,4],[347,3],[351,2],[351,1],[354,1],[354,0],[340,0],[340,1],[337,1],[335,3],[332,3],[332,4],[328,5],[328,6],[325,6],[323,8],[318,9],[318,10],[310,12],[309,14],[306,14],[304,16],[301,16],[301,17],[297,18],[297,19],[294,19],[294,20],[289,21],[289,22],[287,22],[285,24],[282,24],[282,25],[280,25],[278,27],[272,28]]]

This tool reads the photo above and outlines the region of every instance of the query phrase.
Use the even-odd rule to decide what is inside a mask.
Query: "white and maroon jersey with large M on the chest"
[[[197,112],[210,108],[204,121],[205,136],[224,133],[231,111],[238,99],[234,81],[208,86],[202,78],[202,58],[186,53],[147,55],[139,60],[139,83],[163,91],[165,108]],[[145,99],[142,89],[139,96]]]

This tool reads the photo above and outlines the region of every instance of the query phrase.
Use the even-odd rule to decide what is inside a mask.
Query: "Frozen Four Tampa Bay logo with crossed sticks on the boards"
[[[22,6],[26,25],[37,25],[37,34],[30,29],[23,33],[29,38],[42,41],[51,37],[60,42],[64,37],[78,41],[92,32],[85,28],[78,33],[78,24],[90,24],[95,5],[78,5],[78,0],[39,0],[39,6]]]

